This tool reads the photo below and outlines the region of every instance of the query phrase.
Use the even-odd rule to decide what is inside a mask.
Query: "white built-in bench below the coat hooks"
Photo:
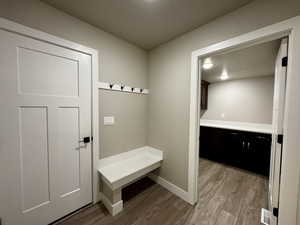
[[[161,166],[163,153],[142,147],[99,160],[102,202],[112,215],[123,209],[122,188]]]

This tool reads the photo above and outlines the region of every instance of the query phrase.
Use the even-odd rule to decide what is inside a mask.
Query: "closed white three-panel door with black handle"
[[[91,56],[0,30],[0,75],[2,224],[91,203]]]

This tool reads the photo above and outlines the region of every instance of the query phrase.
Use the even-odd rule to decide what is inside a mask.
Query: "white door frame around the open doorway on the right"
[[[288,36],[285,137],[282,156],[279,225],[296,225],[300,178],[300,16],[192,52],[188,157],[189,202],[197,202],[200,134],[200,58]],[[299,221],[298,221],[299,222]],[[298,224],[297,224],[298,225]]]

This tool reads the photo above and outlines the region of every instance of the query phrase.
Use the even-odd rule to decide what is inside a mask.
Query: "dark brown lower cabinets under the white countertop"
[[[200,127],[200,157],[269,175],[271,134]]]

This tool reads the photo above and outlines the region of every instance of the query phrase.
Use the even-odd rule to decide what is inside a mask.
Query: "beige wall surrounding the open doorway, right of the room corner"
[[[148,143],[160,176],[187,190],[191,52],[300,14],[299,0],[257,0],[150,52]]]

